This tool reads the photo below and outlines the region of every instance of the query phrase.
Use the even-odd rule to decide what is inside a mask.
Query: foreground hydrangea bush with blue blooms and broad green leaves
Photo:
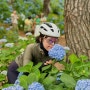
[[[58,62],[63,60],[65,55],[66,49],[59,44],[55,44],[49,51],[49,56]],[[89,90],[90,80],[79,80],[80,78],[88,78],[88,76],[90,76],[90,74],[87,73],[88,70],[85,71],[86,69],[84,69],[90,67],[90,63],[85,62],[84,64],[84,62],[82,62],[86,59],[85,56],[82,56],[82,58],[80,57],[79,59],[73,54],[70,55],[69,60],[71,63],[66,64],[61,62],[65,64],[66,67],[62,72],[58,71],[57,68],[54,68],[53,65],[43,67],[42,71],[44,73],[39,71],[41,64],[37,64],[36,66],[33,66],[33,64],[27,65],[26,68],[22,67],[19,72],[26,72],[29,68],[29,75],[25,76],[22,75],[23,73],[20,73],[13,86],[3,88],[2,90]],[[77,63],[78,61],[80,62],[79,64]],[[83,69],[85,73],[81,73]],[[77,82],[77,80],[79,81]]]

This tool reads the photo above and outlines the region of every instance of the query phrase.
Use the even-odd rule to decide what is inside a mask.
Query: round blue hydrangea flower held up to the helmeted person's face
[[[57,61],[60,61],[64,58],[64,56],[66,55],[66,52],[63,46],[59,44],[55,44],[53,48],[49,50],[48,54],[51,58],[54,58]]]

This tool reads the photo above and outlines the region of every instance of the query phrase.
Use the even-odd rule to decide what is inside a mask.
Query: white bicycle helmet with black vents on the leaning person
[[[40,25],[39,32],[43,35],[60,37],[60,29],[50,22],[46,22]]]

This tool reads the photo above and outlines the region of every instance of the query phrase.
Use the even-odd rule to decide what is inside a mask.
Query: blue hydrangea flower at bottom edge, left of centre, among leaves
[[[33,82],[31,85],[29,85],[28,90],[45,90],[43,85],[41,85],[38,82]]]

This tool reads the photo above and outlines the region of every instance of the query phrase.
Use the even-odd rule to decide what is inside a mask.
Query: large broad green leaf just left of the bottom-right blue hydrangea
[[[60,77],[61,81],[65,83],[65,85],[69,88],[73,88],[76,85],[76,81],[73,77],[68,74],[63,73]]]

